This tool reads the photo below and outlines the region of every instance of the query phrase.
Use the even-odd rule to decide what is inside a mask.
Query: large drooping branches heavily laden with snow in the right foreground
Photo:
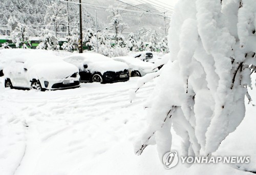
[[[169,62],[147,106],[148,127],[135,152],[157,144],[170,151],[170,127],[183,155],[210,155],[245,116],[245,95],[256,70],[254,0],[184,0],[169,30]],[[239,138],[238,138],[239,139]]]

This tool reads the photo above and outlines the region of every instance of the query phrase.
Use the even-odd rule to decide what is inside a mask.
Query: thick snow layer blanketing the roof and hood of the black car
[[[91,73],[100,72],[103,74],[106,71],[119,72],[128,69],[125,63],[114,61],[99,53],[76,53],[65,57],[63,60],[77,66],[80,70],[84,70],[83,65],[87,65]]]

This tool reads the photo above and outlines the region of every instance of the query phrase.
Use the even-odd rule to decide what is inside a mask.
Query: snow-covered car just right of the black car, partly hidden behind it
[[[132,56],[118,56],[113,57],[112,59],[118,62],[126,63],[129,66],[130,76],[144,76],[147,73],[156,72],[158,70],[153,70],[153,63],[143,62]]]

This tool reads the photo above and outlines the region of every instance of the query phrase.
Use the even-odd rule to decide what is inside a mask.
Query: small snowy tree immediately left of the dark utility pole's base
[[[61,48],[68,52],[78,50],[78,34],[75,32],[75,30],[71,32],[71,36],[67,36],[67,42],[63,43]]]

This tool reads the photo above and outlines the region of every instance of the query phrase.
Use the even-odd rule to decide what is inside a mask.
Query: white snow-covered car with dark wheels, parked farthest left
[[[15,53],[14,53],[15,54]],[[5,87],[56,90],[80,86],[76,66],[56,57],[26,57],[17,55],[4,67]]]

